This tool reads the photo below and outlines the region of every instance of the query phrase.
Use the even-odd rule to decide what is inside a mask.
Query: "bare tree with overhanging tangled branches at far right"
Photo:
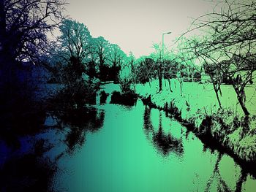
[[[213,75],[217,91],[224,79],[228,79],[236,91],[238,103],[244,115],[246,108],[245,91],[255,80],[256,70],[256,2],[255,1],[215,1],[214,11],[197,18],[189,31],[201,29],[206,36],[200,40],[190,39],[187,51],[222,74]],[[188,32],[189,32],[188,31]]]

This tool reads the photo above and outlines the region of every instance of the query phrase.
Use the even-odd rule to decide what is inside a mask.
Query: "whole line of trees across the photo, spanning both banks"
[[[83,23],[64,19],[61,12],[65,1],[0,1],[1,88],[4,84],[14,86],[13,82],[18,82],[15,68],[24,61],[45,66],[50,63],[48,69],[59,80],[68,79],[59,68],[72,69],[83,79],[116,82],[123,69],[132,72],[128,76],[134,83],[158,78],[159,91],[163,78],[169,80],[170,85],[170,78],[176,77],[182,85],[184,80],[200,79],[204,69],[211,77],[219,107],[222,107],[220,85],[228,82],[233,85],[244,114],[249,115],[245,88],[255,79],[256,3],[237,0],[216,3],[214,12],[197,18],[189,30],[203,29],[203,37],[180,37],[175,54],[165,52],[164,55],[159,45],[154,45],[154,53],[135,60],[103,37],[91,37]],[[61,35],[52,44],[47,34],[57,27]],[[201,66],[195,66],[195,61]],[[62,75],[58,75],[59,72]]]

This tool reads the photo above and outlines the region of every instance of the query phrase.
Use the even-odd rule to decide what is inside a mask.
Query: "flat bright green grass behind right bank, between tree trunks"
[[[168,82],[163,82],[163,90],[157,93],[159,90],[158,81],[154,80],[151,82],[151,86],[146,83],[145,85],[139,84],[136,86],[136,91],[143,96],[151,94],[152,100],[157,105],[164,105],[165,101],[171,101],[176,99],[176,106],[178,108],[187,107],[187,103],[190,105],[189,114],[195,114],[197,110],[203,110],[208,115],[217,112],[219,104],[217,97],[214,93],[214,88],[211,83],[200,84],[198,82],[183,82],[182,96],[180,95],[179,82],[177,80],[171,80],[173,93],[168,88]],[[236,93],[233,91],[231,85],[222,85],[222,96],[220,101],[224,109],[232,110],[234,115],[244,115],[238,101],[236,99]],[[246,88],[246,107],[252,115],[256,115],[256,85],[251,85]],[[157,97],[156,97],[157,94]],[[155,96],[155,98],[154,98]],[[184,105],[185,103],[185,105]]]

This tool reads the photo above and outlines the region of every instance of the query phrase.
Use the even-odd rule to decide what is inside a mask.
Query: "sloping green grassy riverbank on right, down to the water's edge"
[[[222,86],[223,109],[220,110],[211,84],[184,82],[181,96],[179,83],[171,82],[173,92],[168,82],[163,83],[163,90],[159,92],[157,81],[153,81],[137,85],[136,93],[151,107],[169,112],[197,136],[217,142],[238,161],[255,164],[256,116],[252,104],[247,104],[252,115],[245,118],[229,85]],[[253,101],[254,92],[249,88],[246,92],[247,98]]]

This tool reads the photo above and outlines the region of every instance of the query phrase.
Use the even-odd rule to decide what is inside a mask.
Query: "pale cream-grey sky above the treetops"
[[[205,0],[69,0],[67,15],[84,23],[92,37],[102,36],[138,58],[152,53],[164,32],[172,32],[165,35],[165,45],[172,45],[192,18],[211,7]]]

